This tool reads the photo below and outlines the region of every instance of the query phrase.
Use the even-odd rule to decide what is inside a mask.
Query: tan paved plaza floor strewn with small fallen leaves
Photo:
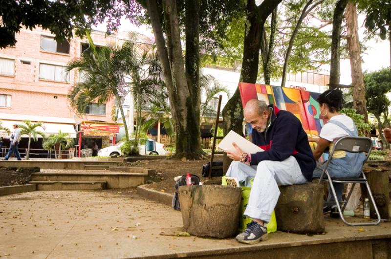
[[[170,233],[183,226],[181,213],[141,198],[134,189],[1,196],[0,224],[1,258],[208,256],[391,237],[391,223],[360,231],[359,227],[344,226],[341,220],[328,217],[323,235],[277,232],[257,245],[239,244],[235,239],[162,236],[162,231]],[[356,250],[358,253],[360,247]]]

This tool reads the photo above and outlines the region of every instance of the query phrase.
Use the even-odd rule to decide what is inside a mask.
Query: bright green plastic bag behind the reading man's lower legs
[[[222,185],[227,185],[227,180],[225,179],[226,177],[223,176],[222,178]],[[253,179],[251,179],[251,185],[253,185]],[[247,224],[250,223],[253,219],[244,216],[244,211],[246,210],[247,204],[248,204],[248,199],[250,198],[250,192],[251,192],[251,187],[240,187],[241,188],[241,215],[242,217],[239,220],[239,231],[243,232]],[[267,233],[273,233],[277,231],[277,220],[276,220],[276,214],[272,213],[270,217],[270,222],[266,224],[267,228]]]

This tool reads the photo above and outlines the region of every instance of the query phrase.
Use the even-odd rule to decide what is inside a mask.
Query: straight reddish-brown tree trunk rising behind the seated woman
[[[357,10],[354,2],[346,7],[346,22],[348,26],[348,50],[350,58],[351,82],[353,85],[353,108],[364,116],[368,122],[367,100],[365,99],[365,84],[361,68],[361,47],[358,38]]]

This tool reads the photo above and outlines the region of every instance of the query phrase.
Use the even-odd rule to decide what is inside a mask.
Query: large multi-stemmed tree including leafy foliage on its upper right
[[[210,37],[213,34],[208,32],[229,20],[227,17],[235,13],[240,1],[146,0],[145,3],[173,111],[176,156],[199,158],[203,154],[199,130],[199,40],[213,41]]]

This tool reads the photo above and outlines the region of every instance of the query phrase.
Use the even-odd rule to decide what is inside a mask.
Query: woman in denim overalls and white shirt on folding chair
[[[322,93],[317,101],[320,106],[320,113],[323,118],[328,119],[322,127],[319,137],[309,138],[309,141],[317,142],[318,145],[313,151],[314,158],[318,160],[323,153],[332,150],[335,141],[345,136],[357,137],[358,132],[353,120],[339,111],[342,108],[343,96],[341,90],[327,90]],[[332,178],[358,177],[361,173],[365,155],[362,153],[349,153],[342,150],[335,151],[333,159],[327,166],[327,171]],[[326,162],[318,164],[313,176],[320,177]],[[344,192],[343,183],[333,183],[338,201],[342,201]],[[333,201],[331,189],[328,188],[327,201]],[[324,213],[330,212],[330,216],[339,217],[336,205],[324,206]]]

